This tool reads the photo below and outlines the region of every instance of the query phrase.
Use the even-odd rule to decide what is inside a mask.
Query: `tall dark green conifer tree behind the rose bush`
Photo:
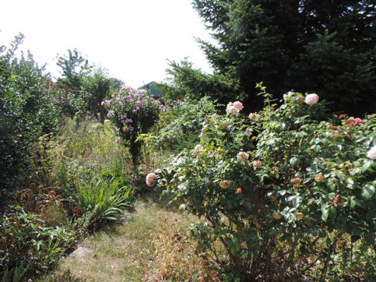
[[[262,108],[254,89],[260,81],[274,97],[295,87],[320,93],[332,110],[374,110],[374,1],[195,0],[193,6],[218,43],[198,39],[207,59],[226,81],[238,81],[253,111]]]

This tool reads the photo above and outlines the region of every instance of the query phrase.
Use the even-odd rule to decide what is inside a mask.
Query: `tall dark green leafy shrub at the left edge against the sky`
[[[27,58],[16,58],[15,51],[22,43],[18,35],[11,49],[0,47],[0,171],[1,198],[11,191],[20,178],[20,168],[28,159],[28,149],[46,133],[54,132],[59,109],[54,104],[53,92],[44,68]]]

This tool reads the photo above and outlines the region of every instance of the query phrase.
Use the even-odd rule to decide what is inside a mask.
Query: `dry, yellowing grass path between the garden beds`
[[[128,221],[103,228],[83,240],[78,250],[62,259],[48,281],[161,281],[152,238],[171,224],[184,232],[188,216],[163,204],[139,201]]]

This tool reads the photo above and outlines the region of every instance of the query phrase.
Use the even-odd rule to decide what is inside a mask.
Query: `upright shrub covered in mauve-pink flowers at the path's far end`
[[[122,85],[119,94],[113,94],[111,99],[104,100],[102,105],[109,109],[107,117],[114,125],[116,133],[130,146],[129,150],[136,167],[142,145],[136,140],[140,134],[147,133],[157,121],[162,104],[147,94]]]

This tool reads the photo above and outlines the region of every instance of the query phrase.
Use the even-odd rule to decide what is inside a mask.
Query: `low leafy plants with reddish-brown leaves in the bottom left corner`
[[[20,207],[1,219],[0,271],[13,269],[8,272],[13,273],[13,281],[22,278],[26,271],[29,274],[46,271],[73,244],[71,231],[42,224],[40,216],[28,214]]]

